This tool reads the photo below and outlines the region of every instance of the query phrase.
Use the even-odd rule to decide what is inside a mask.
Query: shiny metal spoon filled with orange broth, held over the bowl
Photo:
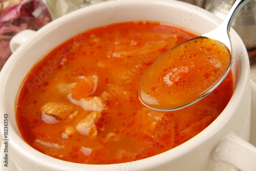
[[[148,68],[139,85],[141,103],[157,111],[178,110],[218,87],[231,69],[233,18],[249,1],[237,0],[217,29],[173,47]]]

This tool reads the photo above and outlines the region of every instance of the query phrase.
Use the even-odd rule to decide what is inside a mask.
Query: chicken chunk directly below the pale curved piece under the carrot
[[[76,130],[82,135],[97,135],[95,123],[101,117],[101,112],[93,111],[86,118],[82,119],[76,126]]]

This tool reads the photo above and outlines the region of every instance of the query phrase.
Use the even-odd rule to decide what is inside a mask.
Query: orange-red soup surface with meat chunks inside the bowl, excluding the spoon
[[[198,103],[156,112],[138,99],[144,72],[173,46],[196,37],[161,22],[92,29],[56,47],[29,72],[17,96],[20,134],[34,149],[77,163],[140,160],[173,149],[218,117],[231,73]]]

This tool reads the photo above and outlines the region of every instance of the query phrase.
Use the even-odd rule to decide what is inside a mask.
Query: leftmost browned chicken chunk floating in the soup
[[[41,110],[50,116],[55,116],[57,120],[66,119],[73,113],[73,108],[59,103],[47,103],[41,107]]]

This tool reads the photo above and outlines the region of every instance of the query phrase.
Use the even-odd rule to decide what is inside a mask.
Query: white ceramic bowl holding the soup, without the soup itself
[[[74,11],[41,28],[17,48],[0,72],[1,134],[2,136],[4,134],[3,119],[6,113],[8,114],[9,155],[16,164],[23,170],[206,171],[236,168],[225,162],[244,170],[255,168],[253,162],[256,159],[255,154],[253,156],[253,153],[246,151],[248,146],[251,149],[253,146],[244,141],[249,140],[250,128],[249,60],[243,41],[233,30],[231,30],[234,51],[232,70],[236,89],[232,98],[225,110],[210,126],[176,148],[139,161],[92,165],[49,157],[34,150],[23,141],[15,121],[15,99],[19,86],[31,67],[54,47],[81,32],[111,23],[134,20],[170,22],[200,34],[213,30],[221,22],[219,18],[204,9],[178,1],[116,0]],[[17,45],[15,43],[18,42],[14,39],[12,45]],[[238,144],[238,141],[243,143]],[[250,155],[252,162],[245,163],[244,155]],[[254,167],[248,167],[253,164]]]

